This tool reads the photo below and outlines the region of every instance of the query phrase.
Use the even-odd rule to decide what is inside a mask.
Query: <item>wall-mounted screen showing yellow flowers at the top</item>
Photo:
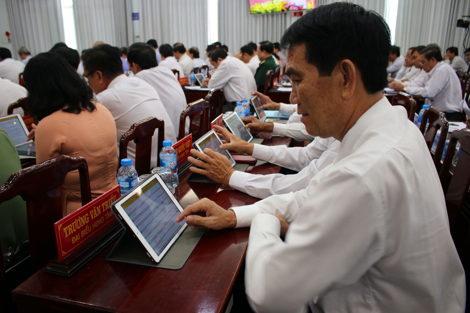
[[[316,8],[316,0],[249,0],[251,14],[295,12]]]

